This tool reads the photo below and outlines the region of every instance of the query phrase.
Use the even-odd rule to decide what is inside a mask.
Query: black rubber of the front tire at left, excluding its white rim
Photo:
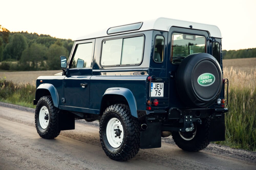
[[[49,124],[46,129],[43,129],[39,123],[39,112],[43,106],[46,106],[49,111]],[[35,125],[37,133],[42,138],[53,139],[60,134],[60,130],[58,130],[58,108],[54,107],[51,96],[43,96],[38,100],[35,111]]]

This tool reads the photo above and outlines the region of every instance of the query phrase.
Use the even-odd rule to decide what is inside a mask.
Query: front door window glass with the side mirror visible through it
[[[72,68],[90,68],[92,59],[92,43],[78,44],[72,59]]]

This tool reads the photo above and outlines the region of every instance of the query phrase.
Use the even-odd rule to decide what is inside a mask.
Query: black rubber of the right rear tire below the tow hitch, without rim
[[[197,152],[202,149],[205,149],[209,145],[209,128],[210,128],[210,119],[202,120],[202,124],[196,125],[196,134],[195,137],[191,140],[184,140],[180,137],[178,132],[173,132],[173,140],[176,145],[185,151]]]

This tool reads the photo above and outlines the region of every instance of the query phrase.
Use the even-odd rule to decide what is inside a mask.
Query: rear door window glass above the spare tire
[[[194,53],[206,53],[206,39],[204,36],[173,33],[172,63],[180,63],[186,56]]]

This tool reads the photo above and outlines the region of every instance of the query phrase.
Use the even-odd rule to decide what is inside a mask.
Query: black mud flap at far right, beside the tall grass
[[[217,114],[210,121],[209,141],[225,140],[225,114]]]

